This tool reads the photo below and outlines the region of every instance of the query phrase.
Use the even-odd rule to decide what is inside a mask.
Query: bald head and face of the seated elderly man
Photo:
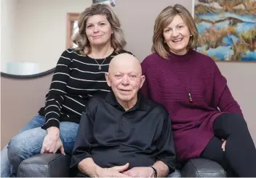
[[[127,53],[113,57],[105,78],[108,86],[113,90],[116,100],[122,106],[124,103],[127,103],[126,106],[132,106],[137,102],[137,91],[145,80],[139,60]]]

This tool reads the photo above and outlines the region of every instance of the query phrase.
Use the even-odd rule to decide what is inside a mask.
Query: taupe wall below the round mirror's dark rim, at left
[[[1,148],[44,106],[52,75],[20,80],[1,77]]]

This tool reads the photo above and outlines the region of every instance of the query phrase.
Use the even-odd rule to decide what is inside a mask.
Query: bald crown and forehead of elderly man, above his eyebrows
[[[113,57],[109,64],[108,73],[117,72],[122,70],[122,72],[136,72],[141,75],[141,66],[139,60],[132,56],[132,54],[123,53]],[[121,71],[119,71],[121,72]]]

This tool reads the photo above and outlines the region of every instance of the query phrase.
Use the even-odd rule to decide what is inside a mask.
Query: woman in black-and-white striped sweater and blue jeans
[[[45,106],[1,151],[1,177],[16,176],[20,163],[37,153],[71,153],[87,101],[110,92],[105,81],[108,64],[127,52],[120,26],[106,4],[92,4],[81,12],[73,39],[78,47],[61,54]]]

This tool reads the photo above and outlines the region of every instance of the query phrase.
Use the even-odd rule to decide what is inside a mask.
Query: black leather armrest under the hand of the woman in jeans
[[[17,170],[17,177],[68,177],[71,156],[44,153],[25,159]]]

